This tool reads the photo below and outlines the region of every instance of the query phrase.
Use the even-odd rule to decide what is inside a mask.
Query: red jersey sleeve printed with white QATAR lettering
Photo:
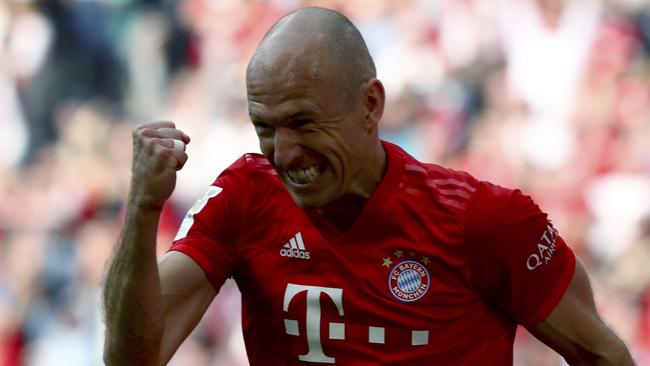
[[[482,182],[470,207],[467,243],[474,286],[519,324],[546,319],[573,277],[573,251],[519,190]]]

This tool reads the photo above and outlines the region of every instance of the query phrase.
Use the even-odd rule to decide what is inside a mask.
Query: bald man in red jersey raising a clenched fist
[[[282,18],[246,82],[264,156],[219,176],[159,264],[160,210],[189,137],[169,122],[134,129],[107,364],[166,363],[229,276],[252,365],[508,365],[517,324],[570,363],[633,364],[529,197],[379,140],[384,89],[347,18]]]

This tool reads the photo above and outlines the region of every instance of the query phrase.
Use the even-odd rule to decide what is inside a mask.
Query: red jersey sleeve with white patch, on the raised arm
[[[239,159],[189,209],[169,251],[192,258],[218,291],[237,261],[240,220],[247,207],[245,160]]]

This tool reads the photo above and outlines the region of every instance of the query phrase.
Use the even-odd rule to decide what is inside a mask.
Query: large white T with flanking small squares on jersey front
[[[327,356],[323,352],[323,346],[321,345],[320,294],[327,294],[336,305],[339,315],[343,316],[343,289],[288,283],[287,289],[284,291],[284,304],[282,309],[285,312],[289,311],[291,300],[303,291],[307,291],[307,324],[305,329],[307,330],[307,345],[309,346],[309,350],[306,354],[299,355],[298,359],[306,362],[334,363],[336,361],[335,358]],[[343,323],[330,322],[328,324],[330,339],[345,339],[345,325]],[[287,334],[295,336],[300,335],[297,320],[284,319],[284,327]]]

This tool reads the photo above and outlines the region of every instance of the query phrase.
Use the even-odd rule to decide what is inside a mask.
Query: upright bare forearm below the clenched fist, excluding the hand
[[[135,211],[135,212],[133,212]],[[157,365],[163,332],[156,264],[159,212],[127,212],[104,283],[107,365]]]

